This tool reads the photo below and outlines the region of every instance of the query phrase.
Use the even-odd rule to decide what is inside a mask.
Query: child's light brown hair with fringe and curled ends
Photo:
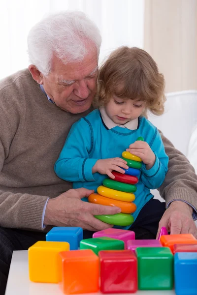
[[[156,62],[144,50],[136,47],[120,47],[111,53],[99,70],[98,94],[94,105],[105,105],[116,95],[121,98],[146,102],[147,110],[155,115],[164,113],[164,76]]]

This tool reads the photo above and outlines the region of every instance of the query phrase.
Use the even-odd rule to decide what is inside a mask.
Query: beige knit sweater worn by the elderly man
[[[72,115],[48,101],[28,69],[0,81],[0,226],[42,230],[48,197],[71,188],[54,163]],[[169,171],[161,187],[168,203],[186,200],[197,208],[197,176],[188,160],[163,136]]]

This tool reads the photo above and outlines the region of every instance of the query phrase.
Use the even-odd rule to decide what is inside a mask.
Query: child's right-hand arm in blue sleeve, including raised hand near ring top
[[[135,142],[130,147],[131,153],[135,154],[138,157],[141,157],[142,161],[146,163],[146,158],[148,157],[148,152],[144,155],[144,151],[140,152],[139,145],[147,145],[143,142]],[[137,148],[136,148],[137,147]],[[134,148],[134,150],[133,150]],[[164,144],[162,142],[162,138],[160,136],[160,133],[157,130],[157,134],[155,136],[155,139],[153,143],[151,144],[151,152],[150,155],[154,156],[154,161],[150,164],[142,164],[141,168],[141,180],[144,183],[144,185],[150,189],[155,189],[160,187],[160,185],[163,183],[165,174],[167,172],[167,165],[168,165],[168,156],[165,153],[164,150]],[[137,151],[138,150],[138,151]],[[152,153],[152,154],[151,154]],[[154,153],[154,155],[153,155]],[[144,158],[144,160],[143,160]]]

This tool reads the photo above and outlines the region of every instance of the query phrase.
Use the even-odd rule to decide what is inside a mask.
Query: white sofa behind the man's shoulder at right
[[[197,91],[172,92],[166,98],[164,114],[149,115],[149,120],[188,157],[197,173]],[[158,190],[152,193],[164,202]]]

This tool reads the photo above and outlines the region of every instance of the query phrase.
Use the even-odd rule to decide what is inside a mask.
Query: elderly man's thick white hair
[[[44,18],[28,35],[31,64],[47,76],[53,54],[65,64],[81,61],[94,46],[99,57],[101,36],[98,27],[81,11],[64,11]]]

